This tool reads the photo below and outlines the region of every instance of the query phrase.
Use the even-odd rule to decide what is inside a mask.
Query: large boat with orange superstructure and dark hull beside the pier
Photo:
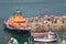
[[[29,35],[31,31],[31,28],[28,25],[25,18],[19,10],[15,11],[14,15],[6,20],[3,25],[6,30],[18,32],[23,35]]]

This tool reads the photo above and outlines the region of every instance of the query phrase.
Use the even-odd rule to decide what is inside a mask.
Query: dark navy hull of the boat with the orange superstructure
[[[13,28],[13,26],[10,26],[9,24],[3,24],[4,25],[4,30],[9,30],[13,33],[18,33],[18,34],[21,34],[21,35],[26,35],[26,36],[30,36],[31,35],[31,32],[30,32],[30,29],[21,29],[21,28]]]

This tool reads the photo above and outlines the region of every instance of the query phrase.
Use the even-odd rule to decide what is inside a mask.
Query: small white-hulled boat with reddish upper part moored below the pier
[[[46,32],[46,33],[34,33],[35,42],[54,42],[57,41],[56,33]]]

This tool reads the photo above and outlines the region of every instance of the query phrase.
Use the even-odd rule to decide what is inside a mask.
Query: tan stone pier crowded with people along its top
[[[66,31],[66,15],[43,15],[29,18],[29,25],[32,28],[32,32],[44,31]]]

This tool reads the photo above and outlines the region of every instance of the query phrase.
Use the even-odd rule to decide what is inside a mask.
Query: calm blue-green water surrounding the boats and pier
[[[11,36],[18,38],[20,43],[26,38],[18,34],[12,34],[3,29],[4,19],[13,15],[15,7],[19,7],[24,16],[66,14],[66,0],[0,0],[0,44],[7,44]],[[62,36],[62,32],[58,32],[58,34]]]

